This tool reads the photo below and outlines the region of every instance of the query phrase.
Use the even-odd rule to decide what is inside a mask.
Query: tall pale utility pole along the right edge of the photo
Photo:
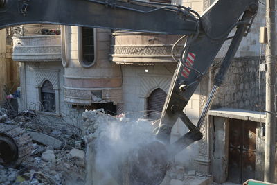
[[[265,87],[265,182],[274,182],[275,143],[276,143],[276,112],[275,112],[275,82],[276,82],[276,27],[275,0],[267,0],[267,49],[266,57],[266,87]]]

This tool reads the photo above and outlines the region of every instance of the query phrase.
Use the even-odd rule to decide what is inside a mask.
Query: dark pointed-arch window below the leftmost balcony
[[[44,112],[55,112],[55,102],[55,90],[53,89],[53,85],[49,80],[46,80],[41,89],[41,110]]]

